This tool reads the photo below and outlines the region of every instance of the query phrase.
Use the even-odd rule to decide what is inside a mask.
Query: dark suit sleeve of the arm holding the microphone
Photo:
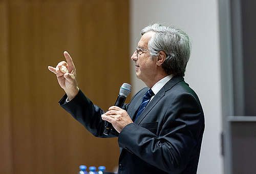
[[[180,173],[200,141],[204,125],[201,104],[193,95],[181,94],[170,102],[164,115],[154,117],[164,119],[159,135],[131,123],[120,132],[119,146],[161,170]]]

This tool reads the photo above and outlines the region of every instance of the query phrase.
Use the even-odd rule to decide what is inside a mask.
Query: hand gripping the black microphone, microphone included
[[[104,129],[104,135],[108,136],[113,127],[120,133],[124,126],[133,122],[127,112],[121,109],[126,97],[131,93],[131,88],[130,84],[123,83],[115,105],[111,106],[108,112],[101,115],[103,120],[108,121]]]

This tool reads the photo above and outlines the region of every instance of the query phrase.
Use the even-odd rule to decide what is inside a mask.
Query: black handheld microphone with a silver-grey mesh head
[[[123,83],[120,87],[119,95],[116,99],[115,106],[122,107],[126,97],[131,93],[132,86],[128,83]],[[110,122],[106,123],[103,134],[109,136],[110,131],[113,129],[113,125]]]

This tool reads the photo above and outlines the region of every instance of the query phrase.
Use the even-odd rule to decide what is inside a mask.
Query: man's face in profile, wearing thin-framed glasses
[[[131,59],[135,61],[136,76],[141,79],[144,83],[150,82],[154,78],[154,70],[156,68],[156,59],[152,59],[148,49],[148,41],[152,38],[154,32],[147,32],[141,36],[138,42],[139,54],[136,52],[132,55]],[[142,49],[142,50],[140,50]]]

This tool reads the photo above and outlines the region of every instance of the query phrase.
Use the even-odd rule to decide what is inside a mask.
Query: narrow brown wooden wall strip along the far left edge
[[[0,173],[12,173],[8,2],[0,1]]]

